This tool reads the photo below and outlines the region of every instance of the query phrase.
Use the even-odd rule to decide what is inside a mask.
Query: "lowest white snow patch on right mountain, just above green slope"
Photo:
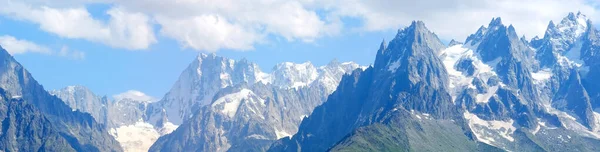
[[[483,143],[503,147],[502,142],[497,140],[515,141],[512,135],[516,131],[516,127],[513,126],[514,120],[512,119],[508,121],[488,121],[480,119],[477,115],[469,112],[465,112],[463,116],[468,120],[469,127],[477,140]]]

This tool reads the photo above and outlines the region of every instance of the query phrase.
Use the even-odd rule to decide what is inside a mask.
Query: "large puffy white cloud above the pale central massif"
[[[249,50],[269,35],[310,42],[340,30],[339,24],[326,21],[298,1],[142,0],[119,5],[155,14],[163,35],[201,51]]]

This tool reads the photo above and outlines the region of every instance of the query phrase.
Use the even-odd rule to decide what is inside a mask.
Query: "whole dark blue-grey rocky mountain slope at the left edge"
[[[3,133],[2,136],[10,139],[7,142],[12,141],[10,146],[7,145],[7,151],[18,149],[25,151],[122,151],[118,142],[108,134],[108,130],[103,125],[97,123],[91,115],[73,110],[62,100],[46,92],[27,70],[1,48],[0,88],[4,90],[5,94],[10,95],[10,98],[18,98],[23,102],[8,106],[12,103],[8,102],[8,96],[3,97],[6,102],[4,105],[7,105],[6,118],[3,121],[3,126],[6,128],[3,127],[3,131],[8,132]],[[22,125],[24,123],[44,125]],[[25,134],[19,134],[19,132],[31,134],[31,137],[24,137]],[[32,134],[36,132],[39,134]],[[21,142],[21,139],[30,141]],[[44,141],[56,142],[42,143],[41,148],[35,147]],[[32,147],[23,148],[29,146],[24,143],[31,143]]]

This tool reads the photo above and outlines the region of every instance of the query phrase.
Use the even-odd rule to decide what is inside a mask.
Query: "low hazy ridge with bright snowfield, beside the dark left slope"
[[[148,151],[158,137],[174,130],[171,126],[155,128],[143,121],[146,109],[152,102],[143,100],[144,98],[115,97],[115,101],[111,101],[84,86],[67,86],[51,92],[73,110],[86,112],[96,120],[103,120],[102,125],[110,128],[110,135],[128,152]],[[144,95],[141,92],[133,93]]]

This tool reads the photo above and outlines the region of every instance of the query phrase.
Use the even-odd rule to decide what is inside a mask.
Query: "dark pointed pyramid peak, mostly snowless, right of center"
[[[374,132],[389,132],[387,127],[377,124],[398,124],[406,118],[406,113],[411,112],[441,119],[433,124],[452,118],[458,111],[453,110],[452,99],[446,92],[447,71],[437,58],[438,51],[443,48],[437,36],[420,21],[399,30],[389,45],[382,43],[374,67],[344,76],[327,102],[302,121],[298,133],[278,141],[270,151],[325,151],[360,127],[382,128]],[[456,124],[455,127],[460,128]],[[397,134],[391,134],[390,138],[404,140],[386,142],[400,145],[385,147],[409,149],[407,142],[415,139],[402,134],[409,129],[393,127],[391,130]],[[346,139],[353,138],[366,137]],[[341,143],[346,144],[347,140]],[[344,148],[334,148],[339,149]]]

